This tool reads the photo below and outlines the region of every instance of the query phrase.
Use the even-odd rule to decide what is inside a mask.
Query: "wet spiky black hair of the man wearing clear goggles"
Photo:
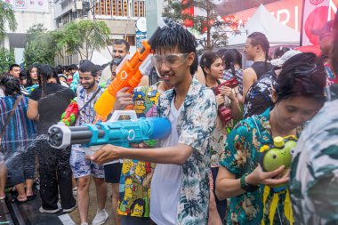
[[[172,20],[165,19],[167,26],[158,29],[156,36],[150,41],[151,49],[161,53],[163,50],[174,51],[175,49],[181,53],[196,52],[197,41],[187,28]],[[198,58],[195,57],[194,62],[190,66],[190,74],[193,75],[198,68]]]

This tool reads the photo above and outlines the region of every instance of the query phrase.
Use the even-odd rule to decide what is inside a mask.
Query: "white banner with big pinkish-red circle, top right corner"
[[[334,20],[338,0],[304,0],[302,10],[301,46],[318,45],[318,30]]]

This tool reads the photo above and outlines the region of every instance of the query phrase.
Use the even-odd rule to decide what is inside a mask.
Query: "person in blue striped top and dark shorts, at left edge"
[[[32,187],[35,157],[33,150],[29,148],[29,140],[34,138],[36,128],[33,121],[26,116],[30,100],[21,95],[20,81],[11,76],[4,78],[4,94],[5,97],[0,98],[1,153],[4,153],[0,166],[0,199],[5,197],[4,186],[8,171],[11,174],[11,184],[18,191],[13,202],[21,203],[34,197]]]

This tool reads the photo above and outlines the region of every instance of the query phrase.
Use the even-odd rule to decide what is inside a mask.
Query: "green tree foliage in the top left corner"
[[[15,31],[18,27],[12,5],[0,1],[0,40],[4,40],[4,36],[6,35],[6,24],[8,24],[8,28],[12,31]]]

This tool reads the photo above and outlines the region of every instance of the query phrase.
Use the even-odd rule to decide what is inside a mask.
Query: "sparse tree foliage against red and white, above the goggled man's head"
[[[229,28],[236,30],[239,21],[235,20],[233,15],[219,17],[216,13],[216,4],[211,0],[185,0],[183,4],[177,0],[165,0],[166,5],[163,15],[173,20],[184,23],[191,22],[192,29],[196,30],[200,35],[204,35],[199,43],[205,49],[213,49],[214,47],[223,47],[227,44],[227,33]],[[199,10],[196,15],[191,15],[187,10],[195,7]],[[230,7],[230,5],[229,5]]]

